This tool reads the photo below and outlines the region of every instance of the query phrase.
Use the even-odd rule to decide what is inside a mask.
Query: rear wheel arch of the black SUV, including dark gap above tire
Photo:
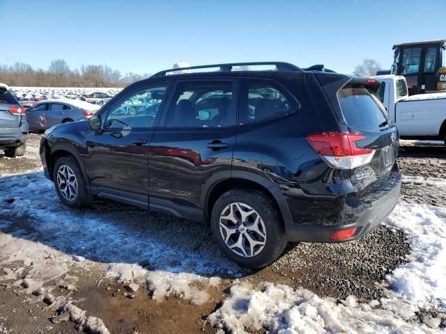
[[[220,172],[208,179],[201,192],[201,205],[205,220],[210,218],[213,205],[223,193],[243,186],[265,192],[277,207],[282,222],[284,224],[292,223],[291,212],[280,189],[265,177],[246,171]]]

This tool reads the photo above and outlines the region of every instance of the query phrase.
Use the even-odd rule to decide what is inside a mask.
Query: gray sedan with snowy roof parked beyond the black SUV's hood
[[[29,131],[43,132],[53,125],[85,120],[95,114],[100,106],[85,101],[57,99],[45,100],[26,111]]]

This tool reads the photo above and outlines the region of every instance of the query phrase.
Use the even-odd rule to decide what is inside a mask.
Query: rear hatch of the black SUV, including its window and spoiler
[[[392,177],[399,140],[397,127],[390,121],[376,97],[380,84],[374,79],[352,78],[341,74],[316,74],[316,78],[333,112],[331,116],[325,113],[325,118],[329,119],[325,127],[328,128],[332,122],[337,123],[334,128],[324,127],[325,132],[332,134],[334,131],[338,136],[339,132],[346,133],[346,137],[339,142],[341,150],[337,155],[348,155],[351,160],[348,165],[339,166],[348,170],[351,184],[359,196],[383,189],[383,185]],[[330,160],[325,160],[330,164]],[[339,168],[336,166],[337,161],[331,161],[332,167]]]

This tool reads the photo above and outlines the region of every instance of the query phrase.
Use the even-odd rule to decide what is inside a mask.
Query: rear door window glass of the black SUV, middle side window
[[[167,127],[236,125],[233,81],[179,82],[167,114]]]

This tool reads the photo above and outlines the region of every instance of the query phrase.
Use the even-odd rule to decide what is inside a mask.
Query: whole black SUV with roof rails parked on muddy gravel
[[[233,70],[244,65],[274,68]],[[266,266],[287,241],[357,239],[399,198],[397,128],[375,80],[314,68],[159,72],[88,121],[47,130],[45,175],[69,207],[100,196],[209,221],[243,267]]]

